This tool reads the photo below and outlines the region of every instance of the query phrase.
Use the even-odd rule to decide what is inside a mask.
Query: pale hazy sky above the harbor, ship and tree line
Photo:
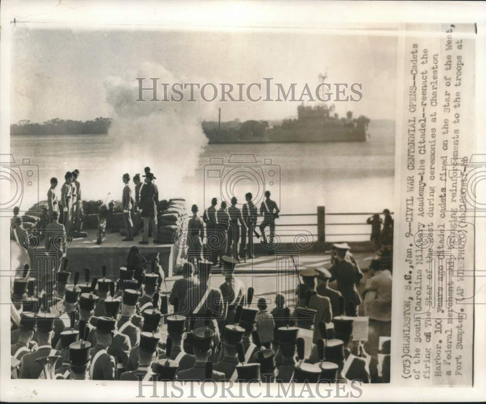
[[[285,88],[296,83],[301,89],[305,83],[315,88],[319,73],[326,71],[329,83],[363,86],[361,101],[334,102],[340,115],[352,110],[354,116],[371,119],[395,116],[396,36],[268,30],[74,31],[18,25],[13,38],[12,123],[21,119],[43,122],[113,117],[120,113],[120,99],[135,102],[136,77],[235,86],[263,83],[264,77],[272,77]],[[221,107],[223,121],[295,117],[299,104],[197,102],[197,108],[183,108],[183,113],[217,120]],[[144,108],[149,114],[159,107],[161,111],[171,107],[149,101],[140,104],[137,111],[142,115]]]

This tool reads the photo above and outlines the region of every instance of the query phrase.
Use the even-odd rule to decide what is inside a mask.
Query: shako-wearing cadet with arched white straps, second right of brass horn
[[[96,321],[96,345],[91,349],[89,380],[116,380],[115,358],[108,354],[113,341],[115,320],[99,317]]]

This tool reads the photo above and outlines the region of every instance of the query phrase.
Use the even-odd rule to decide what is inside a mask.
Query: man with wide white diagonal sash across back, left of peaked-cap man
[[[223,297],[220,289],[214,289],[209,285],[209,274],[211,263],[199,261],[199,286],[188,290],[186,300],[182,305],[181,314],[189,317],[193,314],[196,317],[195,327],[205,323],[208,313],[211,319],[209,327],[214,331],[214,348],[219,342],[218,322],[223,315]]]

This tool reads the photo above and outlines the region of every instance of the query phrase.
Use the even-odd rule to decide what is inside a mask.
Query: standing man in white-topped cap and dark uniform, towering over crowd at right
[[[357,286],[359,285],[363,273],[357,265],[353,265],[346,259],[346,253],[349,250],[347,243],[334,244],[336,249],[336,258],[334,264],[330,268],[332,275],[329,282],[337,281],[337,289],[341,292],[345,300],[345,307],[349,303],[356,306],[356,313],[346,313],[348,316],[356,316],[358,306],[361,303],[361,296],[358,293]]]

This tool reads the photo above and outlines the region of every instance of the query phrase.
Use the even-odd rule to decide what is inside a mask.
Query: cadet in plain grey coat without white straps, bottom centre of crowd
[[[177,379],[182,381],[200,381],[206,380],[206,362],[213,348],[214,331],[208,327],[196,328],[193,332],[193,351],[195,356],[194,366],[191,369],[179,370]],[[212,370],[211,380],[219,382],[225,379],[225,373]]]

